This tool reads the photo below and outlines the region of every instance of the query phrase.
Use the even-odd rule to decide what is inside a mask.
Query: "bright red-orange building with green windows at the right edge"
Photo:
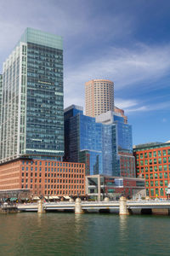
[[[167,198],[170,183],[170,143],[146,143],[133,147],[137,177],[144,177],[146,195]]]

